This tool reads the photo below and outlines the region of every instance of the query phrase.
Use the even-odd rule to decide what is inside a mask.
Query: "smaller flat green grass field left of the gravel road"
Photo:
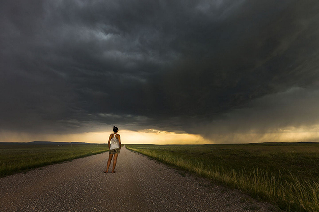
[[[0,144],[0,177],[108,150],[107,144]]]

